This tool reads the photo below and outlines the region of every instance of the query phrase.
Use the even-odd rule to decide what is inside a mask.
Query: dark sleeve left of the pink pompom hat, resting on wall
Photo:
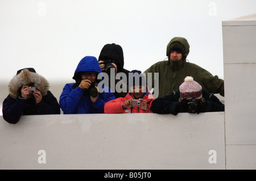
[[[178,103],[179,102],[175,100],[174,92],[172,92],[172,94],[164,96],[163,98],[157,98],[153,100],[150,109],[154,113],[159,113],[159,114],[172,113],[173,115],[177,115],[175,108]]]

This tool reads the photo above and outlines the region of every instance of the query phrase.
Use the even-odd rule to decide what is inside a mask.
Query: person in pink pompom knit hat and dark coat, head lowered
[[[225,106],[212,93],[202,89],[202,86],[187,76],[179,90],[163,98],[155,99],[151,104],[154,113],[177,115],[179,112],[200,113],[225,111]]]

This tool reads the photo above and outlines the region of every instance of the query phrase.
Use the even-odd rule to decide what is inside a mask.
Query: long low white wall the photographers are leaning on
[[[0,169],[225,169],[224,112],[0,116]]]

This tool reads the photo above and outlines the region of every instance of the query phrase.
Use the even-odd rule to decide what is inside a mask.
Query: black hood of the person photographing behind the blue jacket
[[[121,72],[124,64],[122,47],[115,43],[104,45],[98,57],[98,61],[101,60],[114,60],[117,62],[117,73]]]

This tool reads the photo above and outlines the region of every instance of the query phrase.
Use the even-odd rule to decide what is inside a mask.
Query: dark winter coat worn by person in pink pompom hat
[[[202,90],[202,96],[207,103],[205,112],[218,112],[225,111],[225,106],[220,102],[220,100],[213,95],[213,93],[207,90]],[[151,104],[151,111],[159,114],[172,113],[177,115],[177,104],[179,104],[180,91],[173,91],[172,94],[164,96],[163,98],[157,98],[153,100]]]

